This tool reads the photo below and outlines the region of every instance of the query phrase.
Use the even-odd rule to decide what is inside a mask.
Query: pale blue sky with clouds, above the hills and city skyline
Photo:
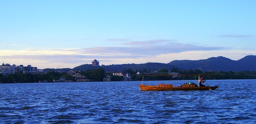
[[[256,55],[255,0],[0,0],[0,60],[38,69]]]

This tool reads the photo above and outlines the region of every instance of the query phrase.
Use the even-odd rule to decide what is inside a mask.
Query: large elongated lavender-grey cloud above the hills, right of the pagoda
[[[123,43],[122,47],[92,47],[84,49],[69,50],[79,54],[95,54],[99,56],[124,56],[129,57],[145,57],[157,56],[161,54],[179,53],[185,51],[197,50],[221,50],[228,49],[225,47],[204,47],[194,44],[184,44],[173,42],[176,40],[149,40],[149,41],[132,41]]]

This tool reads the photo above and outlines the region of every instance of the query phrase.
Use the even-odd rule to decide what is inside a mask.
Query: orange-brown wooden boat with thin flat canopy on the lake
[[[159,75],[155,75],[155,76],[159,76]],[[162,75],[162,76],[170,76],[170,75]],[[200,79],[200,75],[198,79]],[[208,85],[208,86],[198,87],[195,84],[182,84],[181,86],[178,86],[178,87],[173,87],[172,84],[158,84],[157,86],[153,86],[153,85],[144,85],[143,79],[142,79],[142,84],[139,84],[139,87],[141,90],[214,90],[214,89],[217,89],[219,86],[210,87]]]

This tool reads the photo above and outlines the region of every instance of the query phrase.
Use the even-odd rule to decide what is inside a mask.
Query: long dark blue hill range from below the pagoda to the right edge
[[[174,60],[168,64],[164,63],[145,63],[145,64],[121,64],[108,66],[92,66],[91,64],[84,64],[73,68],[73,70],[87,71],[88,69],[103,68],[105,71],[124,71],[125,69],[159,71],[161,69],[172,70],[178,68],[180,70],[195,70],[201,71],[216,71],[216,72],[239,72],[239,71],[256,71],[256,56],[250,55],[241,58],[240,60],[231,60],[225,57],[212,57],[202,60]]]

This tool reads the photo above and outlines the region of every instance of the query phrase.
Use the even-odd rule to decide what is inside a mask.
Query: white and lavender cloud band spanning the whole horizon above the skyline
[[[126,46],[123,47],[66,50],[0,50],[0,59],[10,64],[32,65],[42,69],[56,68],[56,65],[73,68],[82,64],[91,64],[94,59],[99,60],[100,64],[112,65],[147,62],[169,63],[175,59],[199,60],[217,56],[230,58],[234,54],[237,57],[235,59],[240,59],[249,54],[256,54],[255,51],[238,52],[231,48],[204,47],[177,43],[173,40],[131,41],[124,44]]]

